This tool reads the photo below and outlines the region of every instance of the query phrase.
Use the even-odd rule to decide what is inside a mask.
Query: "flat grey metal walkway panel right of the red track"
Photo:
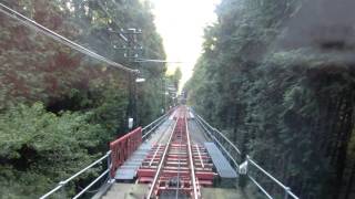
[[[204,143],[210,157],[212,158],[213,165],[215,166],[219,176],[221,178],[236,178],[236,171],[232,168],[230,163],[225,159],[221,150],[215,146],[214,143]]]

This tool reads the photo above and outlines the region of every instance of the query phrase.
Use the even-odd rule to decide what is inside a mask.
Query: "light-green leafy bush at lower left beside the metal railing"
[[[19,105],[0,115],[0,184],[3,193],[38,197],[77,172],[99,154],[101,125],[92,113],[49,113],[43,104]],[[16,190],[16,191],[12,191]]]

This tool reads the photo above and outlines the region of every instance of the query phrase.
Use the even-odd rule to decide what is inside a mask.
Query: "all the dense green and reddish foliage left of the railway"
[[[146,80],[136,85],[141,125],[166,106],[162,100],[165,66],[130,63],[118,49],[124,42],[112,32],[141,29],[141,56],[165,59],[146,2],[3,3],[101,55],[139,69]],[[128,82],[132,80],[126,72],[84,56],[2,13],[0,27],[0,193],[37,198],[101,156],[108,142],[126,130]]]

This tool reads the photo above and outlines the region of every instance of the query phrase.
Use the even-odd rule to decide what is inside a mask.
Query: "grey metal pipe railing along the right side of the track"
[[[298,199],[296,195],[291,191],[291,188],[282,184],[270,172],[264,170],[260,165],[255,163],[250,156],[246,156],[246,160],[242,163],[241,150],[225,136],[223,133],[212,127],[206,121],[204,121],[199,114],[196,114],[192,108],[191,112],[194,114],[196,122],[204,129],[206,135],[216,144],[221,149],[222,154],[227,158],[230,164],[235,168],[240,175],[246,175],[246,177],[263,192],[268,199],[274,199],[271,193],[256,180],[256,178],[247,170],[255,169],[264,177],[267,177],[274,185],[283,190],[284,199],[293,198]],[[243,168],[242,168],[243,167]]]

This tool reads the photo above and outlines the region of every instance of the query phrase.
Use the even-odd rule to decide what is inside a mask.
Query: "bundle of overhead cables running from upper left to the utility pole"
[[[80,45],[80,44],[78,44],[78,43],[75,43],[75,42],[62,36],[62,35],[60,35],[60,34],[58,34],[57,32],[54,32],[54,31],[52,31],[52,30],[39,24],[34,20],[27,18],[26,15],[19,13],[16,10],[12,10],[11,8],[4,6],[3,3],[0,3],[0,12],[4,13],[6,15],[8,15],[8,17],[10,17],[10,18],[19,21],[19,22],[21,22],[22,24],[24,24],[24,25],[27,25],[27,27],[29,27],[31,29],[34,29],[36,31],[39,31],[39,32],[52,38],[53,40],[55,40],[55,41],[58,41],[58,42],[60,42],[60,43],[62,43],[62,44],[64,44],[67,46],[70,46],[70,48],[72,48],[72,49],[74,49],[74,50],[77,50],[79,52],[82,52],[83,54],[87,54],[87,55],[89,55],[89,56],[91,56],[93,59],[100,60],[100,61],[109,64],[112,67],[115,67],[115,69],[119,69],[119,70],[123,70],[123,71],[130,72],[130,73],[139,73],[138,70],[132,70],[132,69],[130,69],[128,66],[124,66],[124,65],[119,64],[119,63],[116,63],[114,61],[111,61],[111,60],[109,60],[109,59],[106,59],[106,57],[104,57],[104,56],[102,56],[102,55],[100,55],[100,54],[98,54],[95,52],[92,52],[91,50],[89,50],[89,49],[87,49],[87,48],[84,48],[84,46],[82,46],[82,45]]]

